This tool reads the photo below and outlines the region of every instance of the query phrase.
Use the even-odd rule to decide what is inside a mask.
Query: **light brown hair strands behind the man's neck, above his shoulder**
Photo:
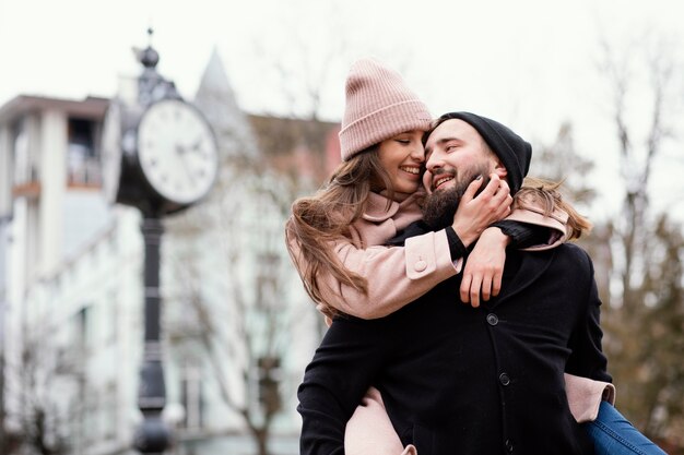
[[[536,201],[544,211],[545,216],[550,216],[557,208],[568,214],[567,219],[567,240],[579,239],[583,234],[589,234],[592,224],[585,216],[580,215],[570,203],[563,199],[561,194],[561,185],[563,182],[553,182],[550,180],[527,177],[522,182],[522,188],[514,197],[514,205],[520,208],[534,207],[526,204],[526,200]]]

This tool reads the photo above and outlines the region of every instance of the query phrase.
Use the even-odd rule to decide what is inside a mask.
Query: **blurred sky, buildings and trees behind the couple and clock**
[[[340,160],[362,57],[435,116],[510,125],[530,175],[565,181],[594,223],[580,243],[616,405],[684,453],[683,16],[676,0],[0,0],[0,453],[135,453],[142,216],[108,203],[101,158],[149,46],[220,157],[207,197],[163,220],[167,453],[298,453],[325,326],[283,224]]]

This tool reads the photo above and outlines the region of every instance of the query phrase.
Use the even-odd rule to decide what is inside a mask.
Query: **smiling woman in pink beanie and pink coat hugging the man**
[[[412,237],[404,248],[382,247],[421,218],[422,135],[429,127],[427,109],[399,74],[373,60],[352,67],[340,132],[343,163],[322,190],[293,204],[286,224],[295,266],[328,321],[337,313],[373,319],[397,311],[459,273],[465,249],[485,229],[490,240],[477,243],[463,272],[461,296],[464,301],[471,298],[473,306],[480,294],[484,300],[498,294],[507,242],[521,248],[541,240],[538,248],[553,248],[565,240],[566,226],[552,217],[535,217],[533,211],[517,219],[542,218],[541,226],[503,221],[488,227],[509,214],[511,202],[506,182],[492,176],[479,195],[484,179],[470,184],[450,227]],[[512,188],[514,193],[518,190]],[[526,203],[530,201],[534,200]],[[519,205],[524,213],[524,204]],[[583,218],[570,217],[569,237],[588,227]],[[612,396],[611,384],[570,376],[568,395],[576,391],[577,396],[588,397],[577,412],[574,409],[576,418],[595,418],[606,390]],[[379,393],[370,390],[364,402],[347,426],[346,453],[411,453],[413,448],[404,450],[393,433]],[[369,428],[374,429],[370,446],[364,435]]]

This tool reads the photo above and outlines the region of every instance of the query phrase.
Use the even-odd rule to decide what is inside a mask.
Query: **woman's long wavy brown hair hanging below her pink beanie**
[[[298,265],[304,287],[328,311],[334,312],[323,300],[320,274],[363,294],[368,290],[366,279],[346,268],[333,248],[340,239],[351,239],[350,226],[364,214],[372,191],[386,190],[388,199],[393,199],[377,149],[374,145],[340,164],[320,190],[292,204],[292,216],[285,224],[290,255]]]

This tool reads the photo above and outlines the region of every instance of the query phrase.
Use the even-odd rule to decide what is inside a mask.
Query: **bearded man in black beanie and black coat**
[[[426,158],[425,219],[438,229],[472,176],[519,187],[531,147],[500,123],[453,112],[429,133]],[[462,248],[455,236],[450,248]],[[502,292],[477,309],[455,303],[460,279],[380,320],[334,320],[298,392],[302,453],[342,454],[370,385],[422,455],[593,453],[563,376],[611,381],[588,255],[574,244],[509,251]]]

